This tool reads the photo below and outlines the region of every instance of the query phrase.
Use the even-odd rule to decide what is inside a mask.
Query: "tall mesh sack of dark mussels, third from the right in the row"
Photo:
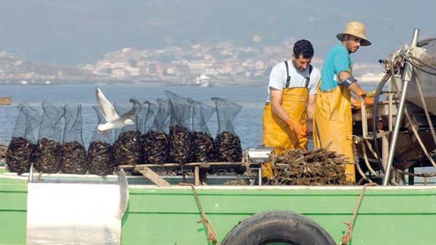
[[[192,107],[187,98],[165,91],[170,105],[169,160],[183,164],[191,161],[190,118]]]

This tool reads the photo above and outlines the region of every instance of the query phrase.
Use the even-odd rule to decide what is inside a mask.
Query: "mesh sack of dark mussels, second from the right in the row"
[[[207,122],[215,112],[213,106],[188,98],[192,106],[191,161],[215,161],[214,138],[211,137]]]

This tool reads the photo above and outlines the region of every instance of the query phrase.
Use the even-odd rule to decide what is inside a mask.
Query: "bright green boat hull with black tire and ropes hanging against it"
[[[189,187],[130,186],[122,244],[208,244]],[[321,225],[339,244],[361,187],[201,187],[201,204],[218,241],[239,221],[267,210],[290,210]],[[0,244],[26,243],[27,182],[0,177]],[[436,244],[435,187],[368,188],[352,245]]]

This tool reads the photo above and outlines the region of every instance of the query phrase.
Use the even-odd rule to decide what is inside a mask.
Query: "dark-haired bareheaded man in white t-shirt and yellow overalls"
[[[312,131],[320,71],[310,62],[314,55],[307,40],[295,43],[291,60],[276,64],[270,74],[263,117],[263,145],[274,153],[306,149]]]

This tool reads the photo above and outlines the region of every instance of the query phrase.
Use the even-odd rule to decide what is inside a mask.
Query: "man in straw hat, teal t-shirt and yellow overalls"
[[[353,77],[350,54],[360,46],[370,46],[362,22],[347,23],[345,31],[336,35],[340,44],[329,50],[321,73],[321,83],[316,98],[314,116],[315,147],[327,147],[348,160],[345,165],[346,180],[355,182],[353,129],[351,117],[351,93],[357,98],[366,98],[357,80]],[[351,92],[351,93],[350,93]]]

